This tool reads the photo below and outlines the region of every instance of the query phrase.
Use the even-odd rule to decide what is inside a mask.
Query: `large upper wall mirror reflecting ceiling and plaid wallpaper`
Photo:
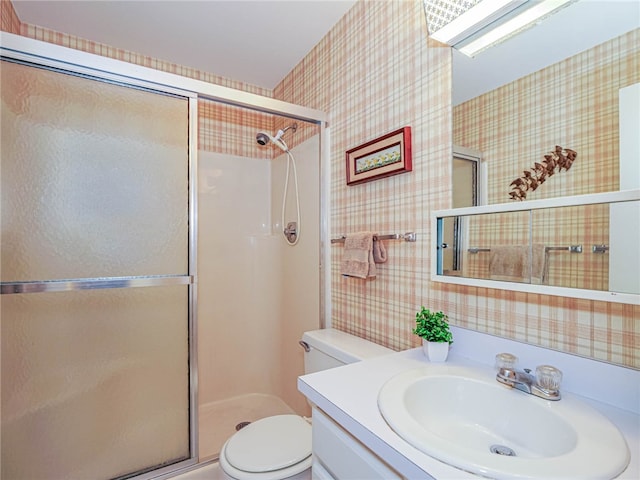
[[[621,189],[618,94],[640,82],[639,16],[635,1],[579,0],[474,58],[452,49],[453,143],[482,155],[487,203],[510,201],[556,146],[577,152],[571,170],[526,200]]]

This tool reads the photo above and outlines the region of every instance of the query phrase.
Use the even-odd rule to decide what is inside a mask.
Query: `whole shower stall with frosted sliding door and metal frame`
[[[2,478],[154,478],[306,413],[322,112],[1,35]]]

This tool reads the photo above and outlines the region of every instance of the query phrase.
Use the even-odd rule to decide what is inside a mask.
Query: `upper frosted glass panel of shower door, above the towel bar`
[[[188,101],[1,75],[2,281],[186,274]]]

